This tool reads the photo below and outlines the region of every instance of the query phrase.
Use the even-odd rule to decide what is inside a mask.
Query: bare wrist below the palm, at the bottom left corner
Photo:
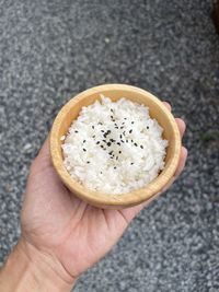
[[[53,256],[43,254],[21,238],[0,271],[0,291],[65,292],[76,279]]]

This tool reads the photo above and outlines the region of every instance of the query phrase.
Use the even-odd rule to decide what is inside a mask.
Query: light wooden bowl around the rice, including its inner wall
[[[61,151],[61,136],[65,136],[79,115],[82,106],[88,106],[100,100],[100,94],[117,101],[126,97],[149,107],[150,116],[155,118],[164,129],[163,138],[169,141],[166,149],[165,167],[146,187],[124,195],[107,195],[92,191],[70,177],[64,166]],[[161,101],[151,93],[125,84],[105,84],[87,90],[71,98],[57,115],[50,132],[50,154],[55,170],[62,183],[82,200],[101,208],[120,209],[141,203],[160,192],[173,177],[181,154],[181,136],[173,115]]]

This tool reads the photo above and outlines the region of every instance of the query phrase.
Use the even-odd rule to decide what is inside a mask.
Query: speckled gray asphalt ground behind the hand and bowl
[[[31,161],[76,93],[128,83],[187,122],[185,172],[77,292],[219,291],[219,36],[210,0],[0,0],[0,261]],[[211,135],[212,133],[212,135]]]

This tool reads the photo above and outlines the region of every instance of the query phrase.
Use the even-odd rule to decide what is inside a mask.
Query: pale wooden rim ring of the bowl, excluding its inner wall
[[[161,174],[159,174],[159,176],[154,178],[151,183],[149,183],[146,187],[122,195],[112,195],[100,191],[92,191],[82,186],[80,183],[70,177],[70,175],[68,174],[67,170],[64,166],[62,157],[60,156],[58,151],[59,143],[57,133],[59,132],[61,121],[65,118],[65,115],[69,112],[69,108],[72,108],[77,103],[79,103],[81,100],[88,97],[91,94],[101,94],[102,92],[110,90],[129,91],[132,92],[134,94],[138,93],[145,96],[147,95],[148,98],[150,98],[153,103],[157,104],[157,106],[159,106],[162,109],[163,114],[169,119],[173,132],[173,139],[175,140],[174,155],[171,159],[171,163],[169,163],[168,166],[164,166],[164,170],[161,172]],[[177,125],[175,122],[172,113],[163,105],[163,103],[157,96],[154,96],[148,91],[145,91],[142,89],[132,85],[117,84],[117,83],[97,85],[88,89],[71,97],[61,107],[58,115],[56,116],[49,135],[51,162],[62,183],[82,200],[85,200],[87,202],[96,207],[106,207],[106,208],[127,208],[130,206],[139,205],[161,192],[162,189],[173,179],[174,173],[176,171],[180,161],[181,147],[182,147],[181,135]]]

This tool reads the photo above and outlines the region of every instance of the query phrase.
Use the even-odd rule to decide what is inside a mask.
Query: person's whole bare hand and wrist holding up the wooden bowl
[[[164,104],[171,110],[170,104]],[[180,118],[176,122],[183,137],[185,122]],[[171,184],[186,157],[183,147]],[[47,139],[31,166],[21,212],[22,235],[0,271],[0,291],[71,291],[80,275],[106,255],[151,200],[123,210],[88,205],[60,182]]]

